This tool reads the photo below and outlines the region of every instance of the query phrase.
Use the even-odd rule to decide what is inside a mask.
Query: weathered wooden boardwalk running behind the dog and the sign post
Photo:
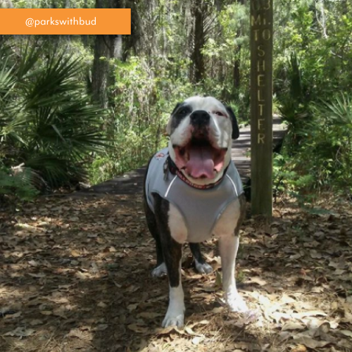
[[[286,132],[286,127],[279,118],[273,118],[273,145],[279,144]],[[251,175],[251,127],[246,126],[240,129],[239,139],[232,144],[232,160],[234,161],[242,182],[246,184]],[[83,194],[142,194],[143,178],[146,166],[128,172],[125,175],[114,177],[101,184],[96,184],[89,189],[79,191]],[[82,194],[83,193],[83,194]]]

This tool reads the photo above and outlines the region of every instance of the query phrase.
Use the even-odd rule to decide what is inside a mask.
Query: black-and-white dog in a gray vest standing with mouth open
[[[156,241],[152,275],[168,275],[169,305],[162,326],[184,325],[181,283],[182,244],[188,241],[196,269],[212,271],[199,243],[219,239],[224,297],[230,310],[245,312],[237,292],[234,265],[246,200],[231,160],[232,139],[239,137],[232,109],[217,99],[192,96],[178,103],[166,127],[168,148],[149,161],[144,178],[146,222]]]

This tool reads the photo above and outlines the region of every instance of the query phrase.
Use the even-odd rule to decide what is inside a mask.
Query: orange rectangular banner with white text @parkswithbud
[[[131,9],[0,8],[0,34],[131,34]]]

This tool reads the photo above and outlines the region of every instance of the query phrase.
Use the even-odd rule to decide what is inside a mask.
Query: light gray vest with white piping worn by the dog
[[[196,189],[171,172],[164,172],[168,148],[158,151],[149,164],[146,175],[146,199],[154,213],[153,194],[170,201],[182,214],[191,242],[210,238],[213,228],[225,208],[243,192],[239,172],[230,162],[222,181],[209,189]]]

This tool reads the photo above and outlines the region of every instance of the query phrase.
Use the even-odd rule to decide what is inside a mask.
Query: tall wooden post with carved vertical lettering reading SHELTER
[[[251,206],[272,216],[272,0],[251,1]]]

